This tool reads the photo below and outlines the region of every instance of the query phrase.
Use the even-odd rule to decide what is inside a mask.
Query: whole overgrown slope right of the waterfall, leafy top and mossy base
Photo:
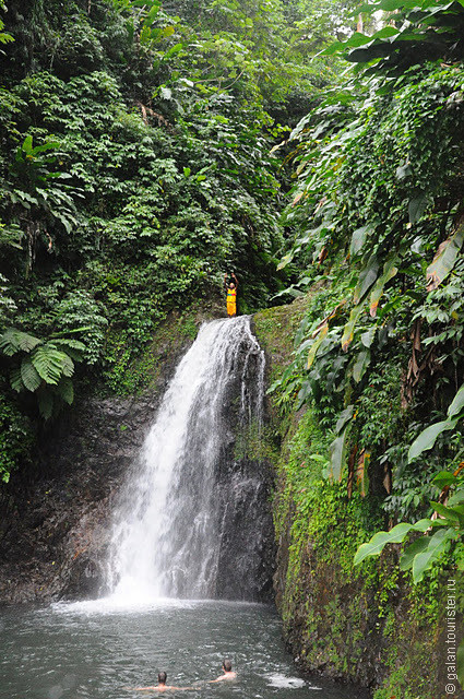
[[[287,637],[377,699],[445,696],[449,581],[463,629],[464,12],[419,4],[334,47],[360,66],[293,133],[283,264],[312,300],[272,387],[285,415],[306,411],[275,505]],[[354,566],[421,517],[402,570],[398,546]]]

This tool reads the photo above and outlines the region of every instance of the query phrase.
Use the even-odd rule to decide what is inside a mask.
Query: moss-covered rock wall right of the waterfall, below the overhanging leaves
[[[270,386],[289,364],[309,297],[254,317]],[[293,413],[269,401],[276,485],[274,587],[286,643],[301,667],[359,683],[374,699],[444,699],[447,583],[441,570],[412,585],[398,550],[353,566],[355,552],[384,526],[381,502],[323,477],[330,437],[310,407]],[[462,574],[456,589],[463,589]],[[456,684],[455,697],[459,694]]]

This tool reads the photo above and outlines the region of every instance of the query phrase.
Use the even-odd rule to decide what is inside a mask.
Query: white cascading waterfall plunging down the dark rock
[[[109,559],[115,595],[215,596],[228,512],[243,506],[247,490],[250,499],[260,488],[249,474],[228,472],[224,461],[231,458],[233,425],[261,424],[263,394],[264,353],[250,319],[203,324],[166,391],[115,513]]]

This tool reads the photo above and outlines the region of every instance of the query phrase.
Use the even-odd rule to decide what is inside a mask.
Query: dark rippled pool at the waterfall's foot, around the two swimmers
[[[207,684],[230,657],[238,677]],[[1,699],[146,699],[127,687],[195,685],[163,696],[198,699],[358,699],[350,687],[300,675],[284,649],[272,607],[165,602],[14,607],[0,612]],[[364,699],[365,696],[362,696]]]

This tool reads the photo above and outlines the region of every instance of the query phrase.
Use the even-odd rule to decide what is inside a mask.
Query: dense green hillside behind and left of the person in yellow
[[[297,4],[0,3],[3,478],[76,367],[128,393],[167,312],[226,271],[241,312],[282,287],[270,151],[330,75],[286,42]]]

